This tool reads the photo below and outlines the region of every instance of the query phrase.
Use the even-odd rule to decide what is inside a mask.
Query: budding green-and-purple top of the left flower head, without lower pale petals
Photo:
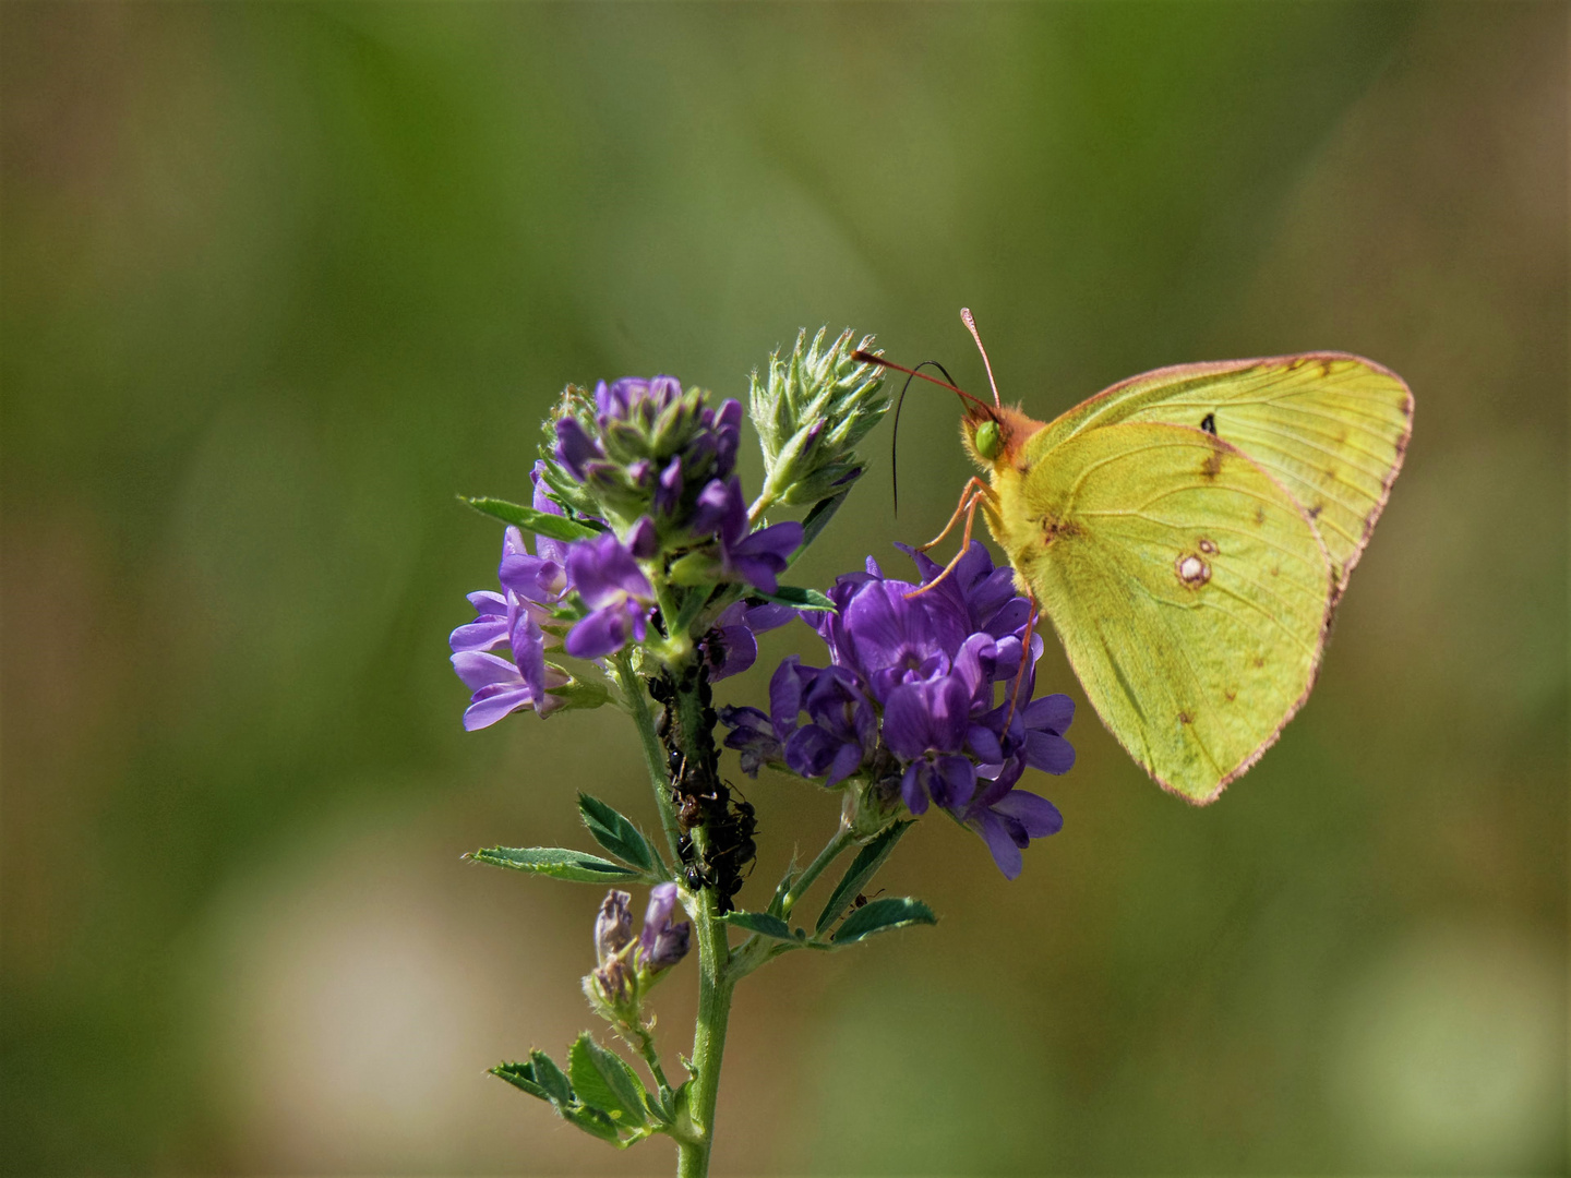
[[[592,401],[575,390],[564,397],[551,482],[584,514],[616,523],[639,559],[712,539],[707,580],[773,594],[801,525],[749,531],[735,474],[740,440],[735,399],[710,408],[674,377],[602,382]]]

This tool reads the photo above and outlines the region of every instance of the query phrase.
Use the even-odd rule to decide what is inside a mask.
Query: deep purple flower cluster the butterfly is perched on
[[[939,565],[906,551],[921,584],[935,581]],[[1064,738],[1075,705],[1068,696],[1031,699],[1042,638],[1032,636],[1027,657],[1029,602],[987,548],[972,543],[941,584],[913,597],[917,587],[886,578],[870,558],[867,572],[840,576],[829,591],[836,613],[804,614],[829,666],[787,658],[770,680],[768,715],[721,713],[726,743],[748,773],[775,762],[826,787],[861,774],[911,814],[938,806],[1015,878],[1031,839],[1064,825],[1053,803],[1015,782],[1026,768],[1057,774],[1075,763]]]

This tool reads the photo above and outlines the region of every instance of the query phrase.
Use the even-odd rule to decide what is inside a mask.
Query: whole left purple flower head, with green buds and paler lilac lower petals
[[[470,594],[474,620],[451,638],[452,668],[473,693],[465,729],[522,708],[545,716],[562,707],[561,690],[572,680],[547,661],[547,650],[594,660],[644,641],[655,591],[639,562],[690,550],[680,559],[699,583],[740,581],[767,594],[779,587],[801,525],[749,531],[735,474],[740,423],[737,401],[713,410],[699,390],[683,393],[672,377],[600,383],[592,401],[569,390],[551,460],[534,465],[533,506],[566,515],[566,501],[608,529],[573,542],[540,536],[534,553],[517,528],[506,531],[501,592]],[[572,594],[586,616],[573,609]],[[751,666],[754,633],[790,616],[778,606],[726,609],[709,644],[710,679]]]

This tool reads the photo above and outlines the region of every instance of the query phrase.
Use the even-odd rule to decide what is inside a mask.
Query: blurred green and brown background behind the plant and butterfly
[[[654,815],[616,716],[460,730],[446,635],[500,536],[452,495],[525,495],[567,382],[738,394],[798,327],[980,390],[965,303],[1040,418],[1166,363],[1375,357],[1406,473],[1315,697],[1218,806],[1082,708],[1018,881],[922,823],[884,883],[938,928],[748,982],[716,1170],[1563,1172],[1566,31],[6,3],[0,1165],[668,1172],[482,1074],[589,1024],[599,897],[460,851],[581,842],[581,785]],[[954,405],[908,405],[899,520],[888,444],[798,580],[950,510]],[[834,806],[743,787],[767,889]]]

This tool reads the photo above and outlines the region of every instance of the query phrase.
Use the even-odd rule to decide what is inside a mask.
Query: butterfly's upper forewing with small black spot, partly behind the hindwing
[[[1032,451],[1134,421],[1199,427],[1249,455],[1313,520],[1340,595],[1401,470],[1412,393],[1395,372],[1345,352],[1178,364],[1076,405],[1032,438]]]

